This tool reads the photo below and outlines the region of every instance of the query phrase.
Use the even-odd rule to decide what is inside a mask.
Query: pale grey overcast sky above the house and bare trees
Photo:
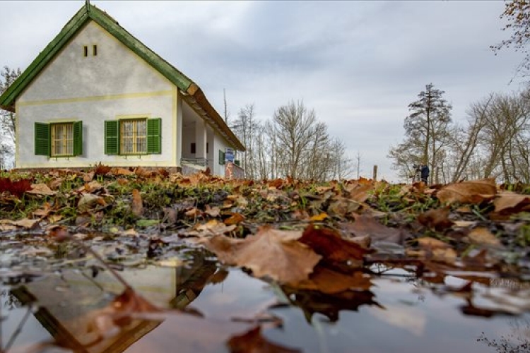
[[[354,157],[361,175],[398,181],[387,152],[404,138],[408,104],[445,91],[454,120],[490,92],[522,88],[521,54],[503,1],[90,1],[199,84],[232,119],[303,100]],[[84,1],[0,1],[0,66],[26,68]]]

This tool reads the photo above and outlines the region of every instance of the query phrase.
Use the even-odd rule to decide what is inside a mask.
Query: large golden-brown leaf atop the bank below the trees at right
[[[495,179],[481,179],[447,184],[436,196],[442,203],[481,203],[493,198],[497,193]]]

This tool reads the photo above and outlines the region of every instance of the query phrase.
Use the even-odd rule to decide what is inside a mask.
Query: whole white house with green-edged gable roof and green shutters
[[[84,5],[0,96],[16,168],[209,167],[245,150],[196,83]]]

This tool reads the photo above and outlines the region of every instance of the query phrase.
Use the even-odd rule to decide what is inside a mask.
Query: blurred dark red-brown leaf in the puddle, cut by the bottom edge
[[[232,336],[230,340],[226,342],[226,345],[228,345],[228,348],[232,353],[302,352],[298,349],[289,349],[280,345],[276,345],[264,339],[264,337],[261,335],[260,326],[256,326],[242,335]]]

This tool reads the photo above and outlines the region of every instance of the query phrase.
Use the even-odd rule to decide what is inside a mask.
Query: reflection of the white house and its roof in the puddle
[[[216,270],[215,262],[197,256],[191,266],[146,268],[120,274],[151,303],[182,309],[199,295]],[[60,345],[83,353],[123,352],[161,323],[134,320],[119,334],[95,341],[94,330],[90,327],[93,325],[91,314],[110,303],[109,291],[117,293],[123,289],[107,272],[92,280],[81,273],[65,271],[61,277],[50,275],[45,280],[30,282],[13,290],[13,294],[23,304],[34,301],[39,304],[35,317]],[[60,295],[57,295],[58,290]]]

